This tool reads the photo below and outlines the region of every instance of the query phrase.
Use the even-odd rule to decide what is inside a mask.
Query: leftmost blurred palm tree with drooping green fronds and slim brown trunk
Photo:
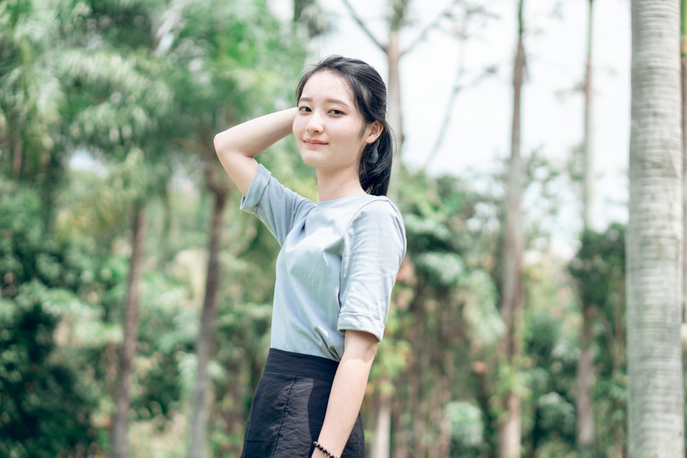
[[[158,134],[168,116],[172,92],[161,78],[161,63],[153,58],[154,3],[108,0],[76,13],[73,6],[60,3],[56,10],[67,46],[53,58],[69,100],[65,120],[70,146],[87,148],[108,165],[110,179],[98,193],[109,198],[101,198],[96,205],[114,203],[111,215],[119,213],[128,220],[131,233],[112,430],[112,455],[122,458],[127,455],[146,207],[151,197],[164,192],[171,176],[164,136]],[[76,21],[84,24],[82,29],[74,27],[74,14],[82,15]],[[131,21],[133,17],[137,21]],[[87,27],[88,23],[97,26]]]

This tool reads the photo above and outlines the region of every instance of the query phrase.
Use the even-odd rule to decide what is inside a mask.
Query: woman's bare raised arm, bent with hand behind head
[[[256,117],[218,133],[214,147],[224,170],[244,196],[258,170],[258,154],[291,133],[297,108]]]

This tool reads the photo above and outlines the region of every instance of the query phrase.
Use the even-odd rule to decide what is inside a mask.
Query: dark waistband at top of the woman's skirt
[[[322,358],[322,356],[286,352],[285,350],[270,348],[264,370],[317,378],[331,383],[334,381],[338,367],[339,363],[337,361]]]

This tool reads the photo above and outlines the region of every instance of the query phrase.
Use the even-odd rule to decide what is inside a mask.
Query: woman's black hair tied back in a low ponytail
[[[360,159],[358,177],[363,190],[375,196],[385,196],[389,189],[394,139],[386,120],[387,91],[379,73],[366,62],[341,56],[329,56],[306,71],[296,88],[296,100],[300,100],[306,82],[318,71],[331,71],[348,83],[355,104],[365,122],[379,122],[381,135],[365,146]]]

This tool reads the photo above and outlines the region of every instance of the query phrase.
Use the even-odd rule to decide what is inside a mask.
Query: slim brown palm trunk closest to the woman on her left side
[[[222,247],[222,222],[227,201],[227,190],[214,187],[212,191],[214,192],[215,201],[212,209],[212,226],[210,227],[210,242],[207,253],[207,276],[205,279],[205,299],[203,299],[203,310],[201,312],[201,329],[196,343],[198,371],[193,393],[189,458],[201,458],[203,456],[207,419],[210,416],[208,402],[210,400],[211,384],[210,375],[207,374],[207,366],[210,363],[213,351],[214,321],[217,314],[217,293],[220,279],[219,252]]]

